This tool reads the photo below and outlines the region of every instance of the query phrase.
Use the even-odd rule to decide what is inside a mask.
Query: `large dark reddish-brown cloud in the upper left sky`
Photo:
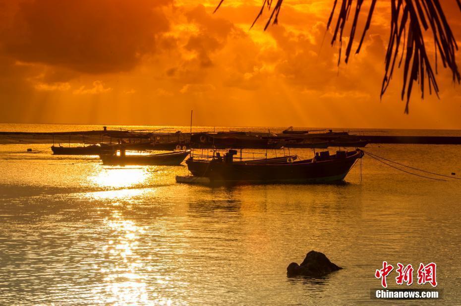
[[[33,0],[4,18],[3,51],[16,60],[86,73],[127,71],[168,31],[172,0]],[[1,22],[1,21],[0,21]]]

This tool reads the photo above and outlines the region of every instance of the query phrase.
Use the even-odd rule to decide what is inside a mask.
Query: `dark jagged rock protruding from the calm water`
[[[310,251],[300,265],[296,262],[291,262],[288,265],[287,276],[293,277],[300,275],[318,277],[340,269],[342,268],[331,262],[325,254]]]

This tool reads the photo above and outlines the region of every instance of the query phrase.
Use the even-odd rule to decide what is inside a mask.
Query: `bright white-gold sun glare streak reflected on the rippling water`
[[[85,193],[91,200],[109,200],[111,214],[103,220],[104,227],[110,232],[102,250],[100,271],[104,288],[96,299],[98,304],[109,305],[172,305],[173,301],[152,293],[152,286],[168,283],[168,278],[158,278],[149,283],[152,272],[152,257],[137,252],[138,244],[145,229],[135,220],[123,215],[124,209],[131,209],[136,199],[143,194],[155,193],[143,188],[152,173],[146,167],[99,168],[89,176],[89,181],[97,187],[115,188]],[[99,253],[99,252],[98,252]],[[149,292],[150,298],[149,299]]]

